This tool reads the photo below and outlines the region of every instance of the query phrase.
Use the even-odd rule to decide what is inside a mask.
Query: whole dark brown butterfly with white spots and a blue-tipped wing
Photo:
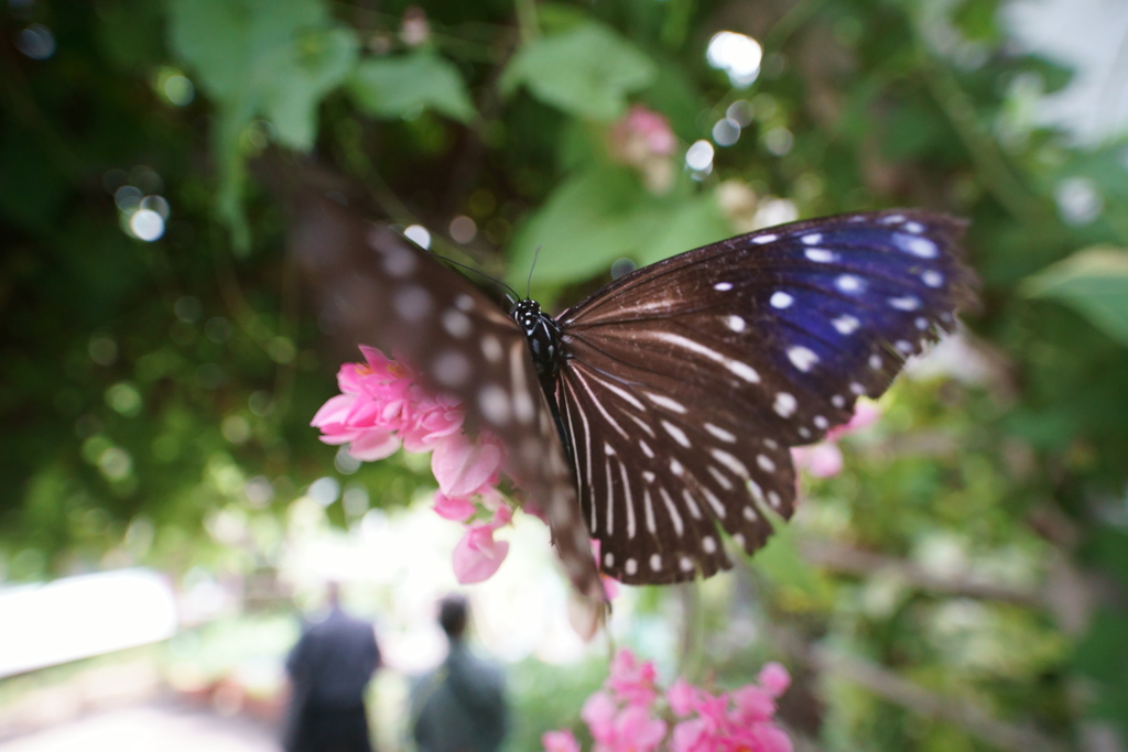
[[[552,318],[506,315],[465,277],[333,201],[299,205],[293,246],[351,342],[396,352],[497,434],[582,593],[731,566],[790,517],[788,449],[849,419],[971,299],[964,223],[843,214],[637,269]],[[719,529],[720,528],[720,529]]]

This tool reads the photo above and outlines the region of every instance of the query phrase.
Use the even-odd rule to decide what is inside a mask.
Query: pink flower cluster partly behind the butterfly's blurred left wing
[[[457,400],[429,395],[404,365],[361,346],[364,363],[345,363],[337,372],[341,392],[310,422],[326,444],[349,444],[358,460],[379,460],[400,445],[408,452],[431,452],[431,471],[439,483],[434,511],[466,525],[455,547],[455,576],[462,584],[482,582],[497,570],[509,543],[494,532],[513,514],[496,485],[504,454],[495,436],[476,441],[462,433],[464,412]]]

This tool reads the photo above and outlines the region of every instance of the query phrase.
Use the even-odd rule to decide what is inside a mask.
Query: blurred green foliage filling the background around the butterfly
[[[309,313],[284,212],[248,178],[256,160],[346,174],[374,219],[423,223],[511,281],[540,245],[535,293],[561,303],[618,259],[773,218],[924,206],[971,221],[982,302],[967,316],[973,351],[954,357],[978,375],[902,381],[750,568],[693,598],[646,593],[644,610],[693,627],[684,667],[717,685],[785,656],[797,681],[783,715],[821,749],[1128,738],[1125,142],[1078,147],[1037,125],[1069,72],[1015,53],[1003,6],[9,3],[3,578],[131,561],[241,575],[276,560],[314,479],[347,476],[385,507],[425,483],[404,457],[358,470],[308,427],[354,353]],[[33,24],[53,35],[45,57],[14,42]],[[722,29],[764,44],[749,88],[706,63]],[[668,120],[672,154],[616,141],[633,105]],[[710,170],[684,169],[726,114],[743,118],[739,139]],[[131,227],[140,209],[167,214],[159,239]],[[460,215],[477,230],[465,242],[449,229]],[[222,534],[220,515],[246,534]],[[884,691],[891,678],[943,702]],[[585,682],[519,683],[522,744],[565,723],[557,700]]]

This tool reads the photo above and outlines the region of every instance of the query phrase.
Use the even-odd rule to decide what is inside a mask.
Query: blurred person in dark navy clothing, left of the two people
[[[372,625],[341,608],[328,586],[328,614],[307,628],[287,658],[293,688],[287,752],[371,752],[364,688],[380,665]]]

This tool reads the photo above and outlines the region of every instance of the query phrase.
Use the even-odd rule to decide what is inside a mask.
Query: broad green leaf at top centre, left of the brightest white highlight
[[[570,115],[610,121],[626,112],[626,97],[654,80],[654,62],[601,24],[583,24],[538,37],[505,69],[501,91],[525,85],[536,98]]]

